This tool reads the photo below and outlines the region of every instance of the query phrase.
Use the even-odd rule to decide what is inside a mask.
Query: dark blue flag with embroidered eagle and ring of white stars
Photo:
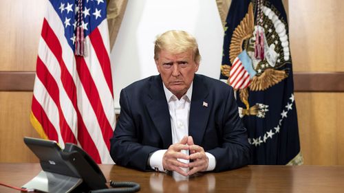
[[[251,164],[302,164],[282,1],[233,0],[223,50],[220,79],[236,91],[253,150]]]

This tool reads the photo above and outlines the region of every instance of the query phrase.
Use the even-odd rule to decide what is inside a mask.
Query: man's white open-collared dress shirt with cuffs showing
[[[163,84],[164,85],[164,84]],[[164,93],[166,95],[166,100],[169,104],[169,113],[171,117],[171,132],[172,132],[172,143],[176,144],[184,136],[189,136],[189,114],[190,114],[190,105],[191,105],[191,96],[193,92],[193,83],[186,94],[178,100],[178,98],[169,91],[164,85]],[[197,145],[197,144],[196,144]],[[164,171],[162,167],[162,157],[166,150],[158,150],[153,152],[151,158],[149,159],[149,165],[152,169],[158,168],[161,172]],[[189,155],[188,150],[182,150],[185,154]],[[206,171],[214,170],[215,168],[215,157],[211,153],[206,152],[208,157],[208,168]],[[184,163],[189,163],[189,160],[179,159]]]

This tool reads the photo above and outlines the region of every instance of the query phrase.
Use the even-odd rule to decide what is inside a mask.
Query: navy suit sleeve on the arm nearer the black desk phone
[[[150,152],[159,150],[152,146],[140,144],[139,130],[133,117],[131,99],[125,89],[120,92],[120,117],[110,139],[110,154],[115,163],[120,166],[135,168],[138,170],[151,170],[147,167],[147,159]]]

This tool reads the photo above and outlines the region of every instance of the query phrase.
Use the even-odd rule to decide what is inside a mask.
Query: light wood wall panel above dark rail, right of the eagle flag
[[[344,71],[344,1],[289,0],[294,71]]]

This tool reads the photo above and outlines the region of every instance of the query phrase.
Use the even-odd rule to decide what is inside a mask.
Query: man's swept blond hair
[[[195,63],[199,64],[201,60],[196,38],[185,31],[170,30],[157,36],[154,45],[154,60],[158,60],[162,49],[172,54],[180,54],[192,50]]]

